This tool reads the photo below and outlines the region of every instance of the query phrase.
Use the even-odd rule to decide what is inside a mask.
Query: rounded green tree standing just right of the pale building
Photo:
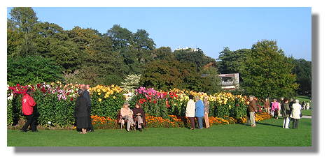
[[[276,41],[262,40],[255,43],[245,61],[242,87],[246,94],[260,98],[294,96],[298,87],[293,65]]]

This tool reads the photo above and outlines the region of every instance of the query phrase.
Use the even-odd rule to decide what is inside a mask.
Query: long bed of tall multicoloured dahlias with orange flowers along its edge
[[[62,84],[61,82],[42,83],[36,85],[21,86],[17,84],[8,86],[7,90],[7,125],[17,124],[22,119],[20,110],[22,106],[22,94],[27,89],[34,91],[36,110],[40,114],[38,124],[48,126],[51,121],[54,127],[71,127],[74,124],[73,111],[78,96],[80,84]],[[116,85],[97,85],[90,88],[92,99],[92,115],[94,115],[97,128],[118,128],[114,123],[118,117],[120,108],[125,103],[124,91]],[[230,93],[206,93],[172,89],[170,91],[156,91],[140,87],[136,89],[130,98],[131,108],[135,103],[141,103],[147,114],[148,127],[184,127],[186,104],[188,96],[209,97],[209,121],[210,124],[235,124],[243,122],[246,115],[246,96],[232,95]],[[97,117],[96,117],[97,116]],[[266,114],[256,115],[256,119],[268,118]],[[101,119],[102,118],[102,119]],[[106,124],[101,124],[107,121]]]

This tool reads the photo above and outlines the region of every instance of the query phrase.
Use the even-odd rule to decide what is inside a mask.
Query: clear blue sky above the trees
[[[120,24],[132,32],[145,29],[156,47],[199,47],[214,59],[224,47],[251,48],[268,39],[276,40],[287,56],[311,61],[311,8],[33,9],[39,21],[64,29],[90,27],[106,33]]]

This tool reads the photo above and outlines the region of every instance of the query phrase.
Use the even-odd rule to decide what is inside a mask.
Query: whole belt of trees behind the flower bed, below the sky
[[[272,40],[259,41],[251,49],[225,47],[216,60],[200,49],[156,48],[146,30],[134,33],[118,24],[106,33],[81,27],[64,30],[38,21],[32,8],[13,8],[7,20],[10,85],[55,80],[121,85],[128,75],[141,75],[139,85],[144,87],[211,94],[221,91],[219,73],[239,73],[244,94],[311,93],[311,61],[286,57]]]

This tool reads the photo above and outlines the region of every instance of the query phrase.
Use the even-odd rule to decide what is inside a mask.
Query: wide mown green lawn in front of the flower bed
[[[281,128],[282,119],[260,121],[256,128],[244,124],[209,129],[148,128],[146,131],[43,130],[37,133],[7,131],[8,147],[309,147],[311,119],[301,119],[298,129]],[[291,126],[291,123],[290,123]]]

